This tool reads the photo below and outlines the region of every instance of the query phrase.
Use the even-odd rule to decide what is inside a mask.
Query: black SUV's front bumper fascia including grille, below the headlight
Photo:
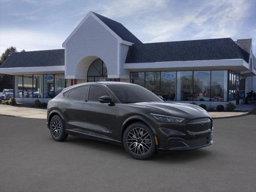
[[[213,144],[212,119],[206,126],[200,123],[207,118],[196,118],[184,124],[158,124],[158,150],[193,150]],[[199,123],[198,123],[199,122]]]

